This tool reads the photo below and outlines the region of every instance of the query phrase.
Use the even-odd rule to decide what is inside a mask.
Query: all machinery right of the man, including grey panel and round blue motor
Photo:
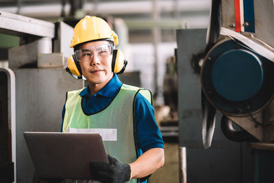
[[[271,0],[212,0],[208,30],[177,30],[187,182],[273,182],[273,17]]]

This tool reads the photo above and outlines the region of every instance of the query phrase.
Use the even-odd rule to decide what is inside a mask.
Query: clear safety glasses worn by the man
[[[94,56],[98,56],[101,59],[108,58],[112,55],[112,51],[112,45],[103,44],[79,49],[75,51],[75,56],[79,62],[90,62]]]

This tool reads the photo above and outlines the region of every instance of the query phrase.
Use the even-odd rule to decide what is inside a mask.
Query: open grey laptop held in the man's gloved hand
[[[89,162],[108,162],[99,134],[25,132],[39,178],[92,179]]]

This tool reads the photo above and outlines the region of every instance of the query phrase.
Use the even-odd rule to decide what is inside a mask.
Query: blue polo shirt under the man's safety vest
[[[79,94],[83,97],[82,109],[84,110],[84,113],[95,114],[105,109],[116,96],[116,93],[119,92],[121,86],[122,82],[116,74],[114,74],[114,77],[112,77],[112,80],[110,80],[107,85],[93,96],[90,96],[88,86],[86,86]],[[62,111],[63,121],[65,104]],[[140,93],[136,96],[134,119],[136,123],[136,141],[139,156],[142,152],[151,148],[160,147],[164,149],[164,141],[162,140],[162,135],[155,121],[153,106],[151,106],[151,103],[149,103],[149,101]]]

